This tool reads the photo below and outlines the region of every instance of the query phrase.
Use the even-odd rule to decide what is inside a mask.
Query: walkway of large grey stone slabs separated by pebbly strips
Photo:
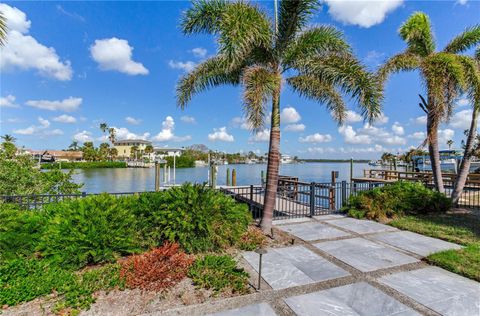
[[[275,225],[294,245],[268,249],[262,291],[214,304],[211,314],[480,315],[480,283],[421,261],[459,245],[338,215]],[[243,258],[258,271],[258,254]]]

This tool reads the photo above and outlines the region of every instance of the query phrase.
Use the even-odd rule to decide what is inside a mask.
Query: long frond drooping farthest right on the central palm
[[[296,68],[300,74],[314,76],[355,99],[369,122],[380,115],[382,86],[378,78],[366,71],[353,56],[314,57],[299,61]]]

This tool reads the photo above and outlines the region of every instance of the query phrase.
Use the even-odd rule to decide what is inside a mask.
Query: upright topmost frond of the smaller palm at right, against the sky
[[[435,51],[430,19],[425,13],[413,13],[400,27],[399,33],[407,42],[408,52],[424,57]]]

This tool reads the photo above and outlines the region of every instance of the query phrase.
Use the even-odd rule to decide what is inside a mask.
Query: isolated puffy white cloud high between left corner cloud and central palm
[[[142,63],[132,60],[133,47],[127,40],[116,37],[95,40],[90,53],[101,70],[116,70],[128,75],[147,75]]]

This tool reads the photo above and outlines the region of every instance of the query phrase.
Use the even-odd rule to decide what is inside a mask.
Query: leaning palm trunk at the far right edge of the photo
[[[477,117],[479,107],[475,107],[472,113],[472,122],[470,123],[470,130],[468,131],[467,143],[465,144],[465,151],[463,153],[462,163],[458,171],[455,184],[453,186],[452,201],[454,205],[458,204],[458,200],[462,195],[465,182],[467,181],[468,173],[470,172],[470,162],[472,161],[473,145],[477,136]]]

